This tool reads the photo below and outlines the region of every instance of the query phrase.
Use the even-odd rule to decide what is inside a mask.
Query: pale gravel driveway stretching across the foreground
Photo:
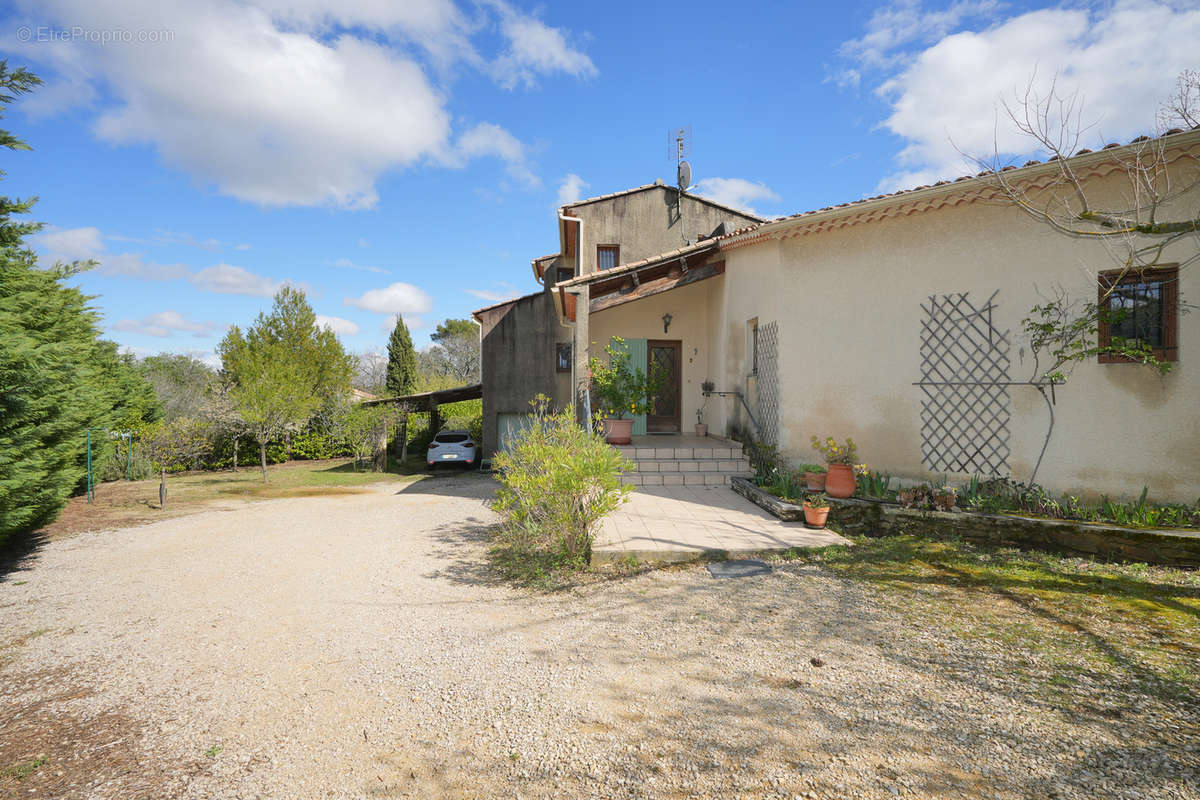
[[[814,566],[497,585],[492,489],[46,545],[0,583],[0,769],[46,760],[0,796],[1200,796],[1195,730],[1054,708]]]

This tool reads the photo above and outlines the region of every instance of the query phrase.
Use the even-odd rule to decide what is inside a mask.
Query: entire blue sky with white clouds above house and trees
[[[1032,79],[1079,91],[1088,145],[1153,131],[1200,68],[1200,5],[38,0],[12,64],[6,194],[47,260],[95,258],[106,336],[212,359],[282,283],[354,351],[536,288],[554,207],[671,180],[785,215],[968,172]]]

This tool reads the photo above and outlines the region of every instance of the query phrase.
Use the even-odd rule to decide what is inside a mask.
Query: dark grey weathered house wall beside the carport
[[[496,452],[497,415],[526,414],[538,393],[554,408],[570,403],[571,373],[557,372],[558,342],[570,342],[571,331],[558,321],[548,290],[515,300],[478,314],[484,383],[484,458]]]

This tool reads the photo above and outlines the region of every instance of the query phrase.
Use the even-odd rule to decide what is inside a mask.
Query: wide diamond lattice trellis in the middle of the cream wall
[[[938,473],[1008,473],[1008,331],[992,325],[998,291],[976,308],[967,294],[922,305],[920,457]]]

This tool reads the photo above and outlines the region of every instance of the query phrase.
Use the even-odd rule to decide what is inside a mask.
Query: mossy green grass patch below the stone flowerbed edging
[[[853,541],[784,558],[878,588],[914,630],[990,642],[1046,694],[1097,682],[1163,699],[1200,692],[1198,572],[916,536]]]

